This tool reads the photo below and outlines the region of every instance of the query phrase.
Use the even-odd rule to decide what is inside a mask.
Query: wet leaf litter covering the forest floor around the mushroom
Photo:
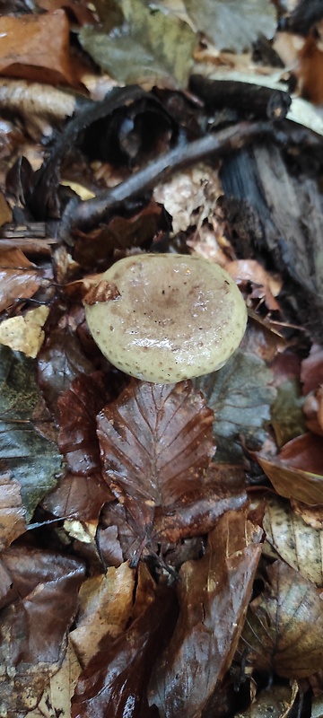
[[[319,25],[293,73],[277,5],[4,5],[9,718],[301,718],[318,702],[322,130],[290,88],[322,100],[306,79]],[[219,372],[153,385],[100,355],[83,297],[142,251],[196,253],[240,286],[249,328]]]

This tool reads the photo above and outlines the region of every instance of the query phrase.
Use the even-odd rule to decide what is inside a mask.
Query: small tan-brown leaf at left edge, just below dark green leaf
[[[0,550],[26,530],[21,485],[5,471],[0,473]]]

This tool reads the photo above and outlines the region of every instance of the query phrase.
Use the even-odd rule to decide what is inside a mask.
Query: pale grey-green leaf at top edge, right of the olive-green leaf
[[[276,29],[275,6],[267,0],[184,0],[196,29],[218,50],[242,52],[259,35],[271,39]]]

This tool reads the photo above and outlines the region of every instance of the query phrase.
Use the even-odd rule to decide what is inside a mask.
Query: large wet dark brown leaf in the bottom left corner
[[[10,547],[1,559],[13,584],[1,611],[0,696],[5,715],[24,715],[39,701],[65,655],[84,567],[78,559]]]

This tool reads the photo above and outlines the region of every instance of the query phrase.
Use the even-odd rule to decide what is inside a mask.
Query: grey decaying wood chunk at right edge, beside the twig
[[[222,170],[225,211],[233,237],[245,240],[243,256],[261,254],[290,277],[291,308],[321,340],[323,197],[310,171],[297,174],[289,163],[272,143],[228,158]]]

